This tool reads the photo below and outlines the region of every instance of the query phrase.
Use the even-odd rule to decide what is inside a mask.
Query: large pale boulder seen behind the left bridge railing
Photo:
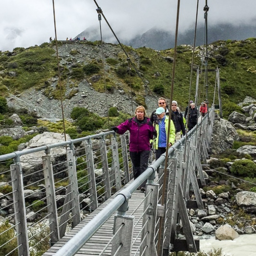
[[[66,134],[66,139],[70,140],[70,136]],[[28,142],[26,147],[27,149],[36,148],[39,146],[47,145],[47,144],[54,144],[58,142],[63,142],[64,134],[56,133],[56,132],[44,132],[42,134],[38,134],[33,139]],[[53,171],[54,173],[60,172],[59,175],[55,177],[63,178],[64,172],[62,172],[66,166],[65,165],[58,165],[58,163],[66,161],[66,147],[54,147],[50,150],[51,154],[51,162],[54,164]],[[22,166],[22,170],[24,173],[23,181],[25,184],[30,181],[37,181],[43,178],[42,170],[42,157],[45,155],[44,151],[39,151],[35,153],[25,154],[20,156],[20,163]],[[33,173],[36,173],[35,175]],[[30,174],[30,175],[27,175]]]

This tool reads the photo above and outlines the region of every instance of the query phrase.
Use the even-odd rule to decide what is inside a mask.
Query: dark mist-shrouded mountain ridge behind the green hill
[[[208,26],[208,44],[218,40],[243,40],[247,38],[256,38],[256,19],[251,25],[240,24],[218,24],[215,26]],[[178,45],[190,44],[194,41],[194,27],[180,32],[178,35]],[[118,43],[115,36],[111,32],[104,29],[103,41],[110,43]],[[115,33],[116,34],[116,33]],[[118,33],[117,33],[118,34]],[[203,45],[205,36],[205,26],[200,25],[196,31],[196,46]],[[90,41],[100,40],[100,32],[98,27],[90,27],[77,35],[79,38],[87,38]],[[75,37],[75,38],[77,38]],[[137,34],[133,38],[118,37],[121,43],[132,46],[133,48],[148,47],[155,50],[165,50],[174,47],[175,33],[166,31],[161,28],[151,28],[145,33]]]

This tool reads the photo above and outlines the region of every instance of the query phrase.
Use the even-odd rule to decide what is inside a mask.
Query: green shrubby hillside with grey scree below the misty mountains
[[[111,106],[132,114],[136,105],[143,104],[150,113],[159,96],[170,97],[173,49],[155,51],[146,47],[123,47],[142,79],[136,75],[134,67],[128,65],[127,56],[119,45],[103,43],[103,69],[101,42],[59,42],[65,116],[69,117],[74,106],[106,115]],[[191,99],[194,99],[196,68],[201,69],[203,52],[203,47],[196,48],[191,74],[192,46],[183,45],[177,49],[173,99],[178,101],[181,110],[188,102],[191,75]],[[208,46],[208,68],[220,69],[224,107],[229,102],[242,102],[248,95],[255,97],[255,60],[255,38],[218,41]],[[8,98],[9,105],[36,111],[42,117],[61,118],[61,93],[53,43],[3,52],[0,70],[0,91]],[[204,76],[202,73],[199,79],[200,100],[205,99]],[[215,81],[216,74],[209,72],[210,103]]]

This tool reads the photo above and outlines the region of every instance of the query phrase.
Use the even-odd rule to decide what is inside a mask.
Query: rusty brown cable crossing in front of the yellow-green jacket
[[[176,17],[176,29],[175,29],[175,45],[174,45],[174,55],[173,55],[170,103],[172,102],[172,98],[173,98],[174,77],[175,77],[175,67],[176,67],[176,58],[177,58],[177,38],[178,38],[178,27],[179,27],[179,5],[180,5],[180,0],[178,0],[178,4],[177,4],[177,17]],[[171,118],[168,119],[168,131],[167,131],[167,140],[166,141],[169,141],[169,138],[170,138],[170,123],[171,123]],[[166,187],[168,149],[169,149],[169,143],[166,143],[166,160],[165,160],[165,169],[164,169],[163,188]],[[162,200],[161,200],[161,205],[164,205],[164,204],[165,204],[165,189],[163,189]],[[160,217],[158,241],[161,240],[162,224],[163,224],[163,217]],[[157,245],[157,251],[158,251],[158,255],[162,255],[161,254],[161,245],[160,245],[160,243],[158,243],[158,245]]]

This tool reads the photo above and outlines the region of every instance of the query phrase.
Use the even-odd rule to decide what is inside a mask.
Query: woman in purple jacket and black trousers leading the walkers
[[[138,178],[148,167],[150,153],[150,140],[156,136],[150,118],[146,117],[146,110],[143,106],[135,109],[135,116],[129,118],[124,123],[113,127],[118,134],[130,132],[129,151],[133,164],[133,177]],[[141,191],[145,191],[146,181],[141,184]]]

